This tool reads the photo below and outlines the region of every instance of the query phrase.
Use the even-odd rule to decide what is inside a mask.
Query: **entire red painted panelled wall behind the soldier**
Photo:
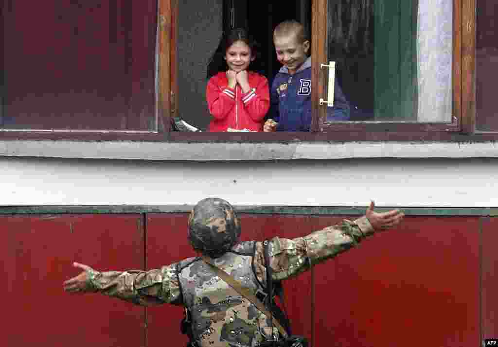
[[[78,272],[71,267],[74,260],[124,270],[195,255],[186,238],[187,214],[148,214],[146,247],[141,217],[0,217],[6,346],[185,346],[180,307],[145,310],[62,291],[62,282]],[[343,219],[241,217],[244,240],[293,238]],[[498,335],[497,230],[498,219],[405,218],[397,230],[374,235],[284,282],[294,333],[315,347],[479,346],[481,333]]]

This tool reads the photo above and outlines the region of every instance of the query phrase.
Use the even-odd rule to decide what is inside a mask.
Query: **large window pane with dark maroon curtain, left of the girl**
[[[155,1],[2,0],[2,129],[157,130]]]

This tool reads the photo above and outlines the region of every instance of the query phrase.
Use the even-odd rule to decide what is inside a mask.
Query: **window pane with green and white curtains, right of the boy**
[[[452,2],[329,0],[327,119],[451,122]]]

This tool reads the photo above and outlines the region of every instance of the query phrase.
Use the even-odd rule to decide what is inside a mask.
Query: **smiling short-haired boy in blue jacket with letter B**
[[[286,20],[273,32],[278,61],[283,65],[271,86],[270,119],[263,131],[309,131],[311,126],[310,41],[304,26]],[[334,107],[327,108],[327,120],[349,120],[350,107],[335,81]]]

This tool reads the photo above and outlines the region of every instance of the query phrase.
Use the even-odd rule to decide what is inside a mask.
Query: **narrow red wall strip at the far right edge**
[[[498,337],[498,218],[483,218],[483,339]]]

